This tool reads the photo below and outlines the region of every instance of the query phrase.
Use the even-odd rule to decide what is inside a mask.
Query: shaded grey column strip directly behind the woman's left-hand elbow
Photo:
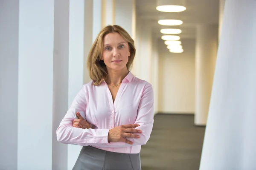
[[[56,140],[56,129],[68,106],[70,2],[55,0],[54,3],[52,170],[67,170],[67,144]]]

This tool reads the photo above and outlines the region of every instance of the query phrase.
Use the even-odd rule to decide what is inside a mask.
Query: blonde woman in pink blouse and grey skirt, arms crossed
[[[135,53],[120,26],[106,26],[93,43],[87,60],[92,81],[57,129],[59,142],[84,146],[73,170],[141,170],[140,148],[154,122],[153,89],[130,72]]]

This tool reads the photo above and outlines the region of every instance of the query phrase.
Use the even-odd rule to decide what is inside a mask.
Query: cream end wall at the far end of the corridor
[[[170,53],[159,40],[159,112],[195,112],[195,40],[182,40],[183,53]]]

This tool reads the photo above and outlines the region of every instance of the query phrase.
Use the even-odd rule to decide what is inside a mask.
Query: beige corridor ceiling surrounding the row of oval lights
[[[198,24],[218,24],[219,0],[186,0],[186,10],[182,12],[157,11],[157,0],[136,0],[137,17],[146,20],[152,26],[153,33],[160,38],[161,28],[179,28],[181,39],[195,38],[195,28]],[[180,19],[180,26],[161,26],[157,23],[160,17]]]

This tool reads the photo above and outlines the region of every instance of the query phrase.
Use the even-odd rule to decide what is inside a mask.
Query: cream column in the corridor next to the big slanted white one
[[[195,51],[195,125],[206,125],[218,48],[218,27],[199,25]]]

